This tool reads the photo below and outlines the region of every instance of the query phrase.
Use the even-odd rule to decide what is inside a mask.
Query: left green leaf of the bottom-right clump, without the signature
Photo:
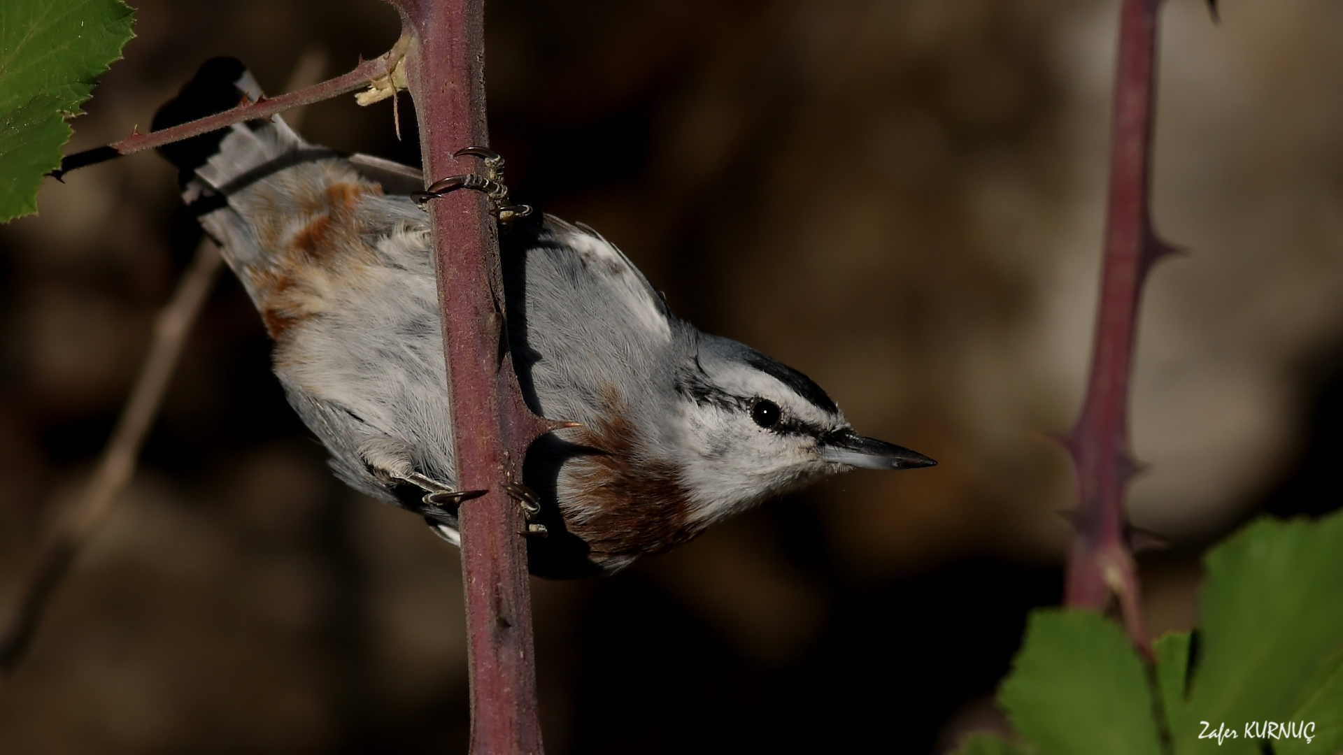
[[[998,696],[1049,755],[1158,755],[1152,696],[1123,630],[1089,611],[1035,611]]]

